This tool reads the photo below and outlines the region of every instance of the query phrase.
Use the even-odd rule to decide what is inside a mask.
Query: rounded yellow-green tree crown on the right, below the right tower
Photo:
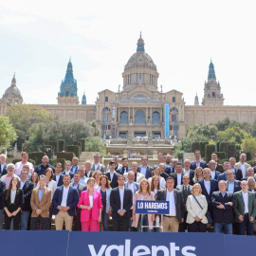
[[[223,132],[218,132],[218,141],[220,142],[235,142],[241,144],[242,140],[251,137],[247,131],[240,127],[230,127]]]

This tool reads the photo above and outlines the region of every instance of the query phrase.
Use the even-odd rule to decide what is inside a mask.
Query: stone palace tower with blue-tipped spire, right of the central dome
[[[205,82],[204,98],[202,105],[204,106],[223,106],[224,98],[221,93],[220,82],[216,81],[214,65],[210,60],[208,82]]]

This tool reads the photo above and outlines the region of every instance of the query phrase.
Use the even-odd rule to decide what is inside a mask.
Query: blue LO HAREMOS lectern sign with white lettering
[[[136,201],[136,213],[142,214],[169,214],[169,201]]]

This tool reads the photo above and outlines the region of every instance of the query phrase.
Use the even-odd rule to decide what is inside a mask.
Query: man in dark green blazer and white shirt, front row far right
[[[253,235],[253,223],[256,216],[256,199],[254,192],[248,192],[246,180],[241,181],[240,192],[234,193],[235,222],[238,223],[239,234]]]

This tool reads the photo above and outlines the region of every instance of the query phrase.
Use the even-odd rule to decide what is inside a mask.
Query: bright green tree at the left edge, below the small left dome
[[[12,124],[9,123],[8,117],[0,117],[0,129],[0,146],[8,147],[10,142],[13,142],[17,139],[15,129],[13,128]]]

